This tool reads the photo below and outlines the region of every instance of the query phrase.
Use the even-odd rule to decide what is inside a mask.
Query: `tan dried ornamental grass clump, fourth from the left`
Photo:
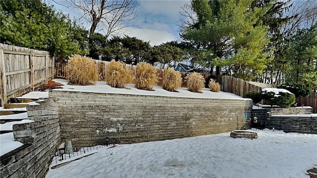
[[[175,91],[182,85],[182,77],[178,71],[168,68],[163,73],[163,89]]]

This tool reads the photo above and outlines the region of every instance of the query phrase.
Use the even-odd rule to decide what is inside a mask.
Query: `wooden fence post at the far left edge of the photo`
[[[0,49],[0,78],[1,78],[1,84],[0,84],[0,92],[1,92],[1,99],[0,99],[0,106],[3,106],[4,104],[7,104],[6,99],[6,76],[5,76],[5,59],[4,59],[4,53],[3,49]]]

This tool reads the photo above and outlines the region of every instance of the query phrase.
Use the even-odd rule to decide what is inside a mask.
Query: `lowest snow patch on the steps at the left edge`
[[[14,141],[13,133],[0,134],[0,156],[22,145],[23,143]]]

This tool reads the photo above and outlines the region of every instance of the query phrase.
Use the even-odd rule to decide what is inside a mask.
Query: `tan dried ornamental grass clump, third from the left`
[[[137,64],[135,88],[153,90],[153,86],[158,80],[157,70],[146,62]]]

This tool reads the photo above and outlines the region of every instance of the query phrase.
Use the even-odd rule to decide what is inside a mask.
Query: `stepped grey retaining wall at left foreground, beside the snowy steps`
[[[52,99],[27,107],[35,122],[13,125],[16,141],[24,145],[1,156],[0,178],[44,178],[51,154],[60,144],[58,106]]]

